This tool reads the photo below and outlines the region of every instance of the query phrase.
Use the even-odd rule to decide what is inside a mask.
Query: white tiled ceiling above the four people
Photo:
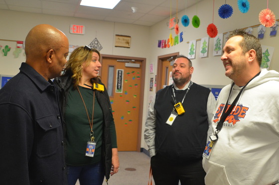
[[[176,15],[176,11],[185,9],[201,0],[121,0],[115,9],[97,8],[80,5],[80,0],[0,0],[0,9],[52,15],[73,16],[113,22],[153,25],[165,18]],[[131,7],[138,8],[133,13]]]

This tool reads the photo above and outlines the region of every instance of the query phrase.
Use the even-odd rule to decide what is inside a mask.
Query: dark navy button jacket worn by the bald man
[[[58,89],[19,69],[0,89],[0,184],[66,185]]]

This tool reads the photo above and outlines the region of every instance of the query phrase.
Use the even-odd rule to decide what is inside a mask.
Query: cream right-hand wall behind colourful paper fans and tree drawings
[[[174,3],[174,1],[172,1]],[[237,0],[227,0],[228,4],[233,7],[233,14],[231,17],[227,19],[222,19],[218,15],[219,7],[225,3],[225,0],[215,0],[214,3],[214,17],[213,17],[213,0],[203,0],[200,1],[197,5],[193,5],[188,7],[183,11],[178,12],[179,22],[181,16],[184,14],[188,15],[190,18],[190,24],[187,27],[184,27],[181,22],[178,23],[179,29],[183,31],[183,42],[175,46],[170,46],[169,48],[158,48],[157,43],[158,40],[168,39],[170,30],[166,26],[168,19],[165,19],[154,26],[151,27],[150,30],[150,53],[151,57],[148,60],[151,63],[154,63],[155,73],[149,74],[149,71],[146,70],[146,84],[148,84],[147,80],[150,77],[155,78],[156,75],[156,61],[157,56],[179,52],[180,54],[184,54],[187,56],[188,47],[187,41],[196,40],[203,37],[207,37],[207,26],[208,24],[213,23],[217,26],[218,34],[225,33],[231,31],[236,28],[245,28],[253,25],[260,24],[259,22],[259,13],[262,9],[267,8],[267,0],[249,0],[250,9],[247,13],[241,13],[238,9]],[[175,4],[173,4],[175,5]],[[278,0],[269,0],[269,8],[273,10],[276,15],[276,18],[279,18],[279,1]],[[172,15],[175,16],[176,12],[172,12]],[[192,17],[194,15],[199,16],[201,24],[198,28],[192,26]],[[253,34],[257,35],[258,27],[253,28]],[[279,31],[279,30],[278,30]],[[172,36],[174,37],[176,34],[174,30],[171,30]],[[266,29],[264,39],[261,39],[261,44],[275,47],[272,63],[270,69],[274,69],[279,71],[279,33],[277,36],[270,36],[270,28]],[[227,85],[231,82],[229,78],[225,76],[225,69],[221,61],[221,56],[213,56],[213,38],[209,39],[209,51],[208,57],[200,58],[200,41],[197,41],[196,44],[196,58],[192,59],[194,72],[192,75],[192,81],[198,84],[206,84],[206,85]],[[147,66],[148,68],[148,66]],[[146,106],[148,106],[149,96],[154,96],[155,92],[149,92],[146,88],[145,90],[145,102]],[[143,111],[143,118],[146,118],[147,110]],[[143,133],[143,131],[142,131]],[[146,144],[143,142],[142,144],[145,149],[147,149]]]

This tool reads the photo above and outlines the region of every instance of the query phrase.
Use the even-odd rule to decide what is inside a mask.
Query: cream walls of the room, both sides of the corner
[[[215,0],[214,4],[214,24],[218,28],[218,33],[224,33],[235,28],[244,28],[259,24],[259,13],[262,9],[267,8],[266,0],[249,0],[250,10],[247,13],[241,13],[237,6],[237,0],[227,0],[234,13],[227,19],[222,19],[218,15],[219,7],[225,3],[225,0]],[[173,1],[174,2],[174,1]],[[175,5],[175,4],[173,4]],[[269,0],[269,8],[271,8],[277,18],[279,17],[279,1]],[[176,12],[172,12],[175,16]],[[154,96],[155,88],[149,91],[150,77],[155,78],[157,68],[157,56],[169,54],[173,52],[180,52],[187,56],[188,45],[187,41],[207,37],[206,28],[208,24],[212,23],[213,19],[213,0],[203,0],[197,5],[187,7],[186,11],[178,12],[178,18],[187,14],[190,21],[193,15],[198,15],[201,20],[199,28],[194,28],[190,22],[188,27],[184,27],[179,23],[180,32],[183,31],[183,42],[170,48],[158,48],[158,40],[167,39],[170,30],[166,26],[168,19],[165,19],[154,26],[139,26],[133,24],[114,23],[107,21],[82,19],[65,16],[54,16],[36,13],[17,12],[9,10],[0,10],[0,39],[7,40],[24,40],[28,31],[35,25],[40,23],[51,24],[58,29],[62,30],[69,38],[69,43],[72,45],[86,45],[89,44],[95,37],[101,42],[103,49],[102,54],[124,55],[146,58],[146,71],[145,71],[145,90],[143,100],[143,117],[142,117],[142,138],[141,147],[147,149],[143,140],[144,122],[147,115],[147,107],[149,97]],[[70,24],[85,25],[85,35],[74,35],[69,33]],[[258,27],[253,29],[253,34],[257,35]],[[172,36],[175,36],[174,30],[171,30]],[[272,58],[271,68],[279,71],[279,36],[269,36],[270,28],[266,29],[266,34],[261,43],[268,46],[275,47],[274,55]],[[132,37],[131,48],[114,47],[115,34],[129,35]],[[3,47],[9,45],[15,47],[15,42],[1,41],[0,45]],[[192,59],[194,66],[194,73],[192,80],[198,84],[208,85],[227,85],[230,79],[224,75],[224,67],[220,60],[221,56],[213,56],[213,39],[209,39],[209,52],[208,57],[200,58],[199,49],[200,41],[196,45],[196,58]],[[20,53],[18,58],[12,55],[14,49],[8,53],[8,56],[3,56],[0,52],[0,74],[15,75],[18,73],[18,68],[21,62],[25,61],[24,52]],[[149,73],[149,63],[154,63],[154,73]]]

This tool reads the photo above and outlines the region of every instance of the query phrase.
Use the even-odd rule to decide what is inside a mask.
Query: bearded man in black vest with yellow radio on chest
[[[177,56],[173,84],[159,90],[149,105],[144,139],[156,185],[204,185],[202,154],[215,98],[191,81],[193,70],[190,59]]]

